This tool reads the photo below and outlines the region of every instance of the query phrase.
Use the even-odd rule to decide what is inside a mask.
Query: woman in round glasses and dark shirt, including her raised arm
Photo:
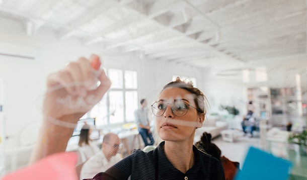
[[[44,123],[41,138],[33,151],[31,162],[35,162],[49,154],[65,151],[68,139],[73,131],[61,126],[59,122],[76,123],[87,111],[102,99],[110,87],[110,80],[101,70],[98,74],[100,85],[96,89],[89,86],[71,85],[83,81],[96,83],[90,62],[99,59],[91,56],[89,61],[80,58],[78,62],[68,64],[63,71],[49,76],[48,89],[63,86],[60,91],[52,91],[45,95],[43,104]],[[96,83],[97,84],[97,83]],[[91,97],[84,106],[74,108],[55,106],[57,98],[70,96],[70,100]],[[207,100],[204,94],[185,83],[179,77],[164,86],[158,101],[151,105],[156,118],[156,129],[164,141],[155,150],[147,153],[138,150],[100,172],[93,179],[225,179],[220,161],[202,153],[193,145],[196,128],[202,127],[206,114]],[[56,120],[58,123],[50,121]]]

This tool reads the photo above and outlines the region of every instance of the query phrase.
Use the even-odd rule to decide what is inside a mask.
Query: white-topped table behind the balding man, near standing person
[[[120,132],[118,133],[118,137],[121,139],[121,142],[123,144],[123,147],[121,148],[121,154],[124,155],[125,154],[125,150],[127,152],[127,155],[131,154],[131,151],[134,148],[134,142],[135,140],[137,140],[137,148],[141,148],[141,141],[140,141],[140,135],[138,133],[138,130],[131,130],[131,131],[124,131],[124,132]],[[133,138],[132,139],[132,143],[131,146],[129,146],[129,138]],[[131,148],[130,148],[131,147]]]

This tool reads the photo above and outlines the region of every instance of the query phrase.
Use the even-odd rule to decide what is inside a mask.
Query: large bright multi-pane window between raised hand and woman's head
[[[110,90],[86,117],[96,117],[97,126],[134,121],[134,111],[138,108],[136,71],[105,71],[112,81]]]

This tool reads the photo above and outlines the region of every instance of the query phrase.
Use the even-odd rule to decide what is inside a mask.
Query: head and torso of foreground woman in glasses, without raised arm
[[[168,83],[151,105],[164,141],[147,153],[134,152],[93,179],[224,179],[220,161],[193,146],[195,130],[205,118],[205,100],[179,77]]]

